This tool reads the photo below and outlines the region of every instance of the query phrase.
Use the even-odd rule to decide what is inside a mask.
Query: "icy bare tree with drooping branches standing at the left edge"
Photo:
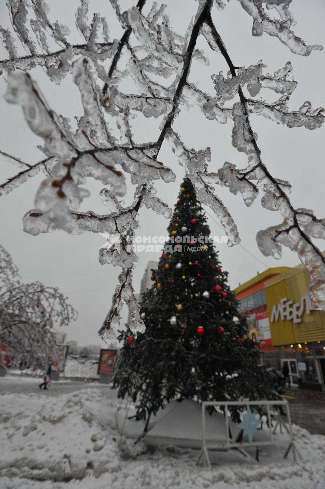
[[[0,343],[11,366],[43,368],[56,352],[55,327],[67,326],[76,311],[56,287],[22,284],[18,268],[0,246]]]

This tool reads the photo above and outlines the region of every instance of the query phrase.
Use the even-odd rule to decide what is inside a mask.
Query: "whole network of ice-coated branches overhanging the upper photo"
[[[253,36],[261,36],[265,32],[301,56],[322,49],[318,44],[305,45],[291,30],[295,22],[288,10],[290,0],[238,1],[253,18]],[[257,134],[250,121],[251,114],[257,114],[288,128],[303,126],[313,130],[323,124],[324,109],[313,110],[310,102],[306,101],[298,110],[289,111],[289,95],[297,86],[296,81],[287,79],[292,70],[290,62],[279,67],[274,74],[263,74],[265,66],[261,61],[248,68],[234,66],[212,19],[213,5],[217,10],[225,6],[220,0],[199,0],[196,15],[183,36],[171,30],[164,6],[159,8],[156,2],[152,3],[147,14],[143,13],[147,7],[146,0],[139,0],[136,6],[123,14],[120,11],[123,2],[110,0],[110,3],[116,14],[115,22],[120,22],[124,29],[122,38],[109,39],[108,24],[100,14],[94,14],[92,22],[89,22],[88,1],[81,0],[76,27],[82,41],[72,45],[67,40],[69,28],[50,20],[49,8],[44,1],[8,2],[13,31],[26,55],[17,55],[17,39],[9,30],[0,27],[8,53],[8,59],[0,61],[0,72],[8,82],[6,100],[21,105],[29,128],[43,138],[43,145],[39,147],[43,159],[30,165],[2,151],[1,155],[18,164],[22,171],[3,183],[0,191],[2,194],[10,192],[40,170],[46,176],[36,193],[35,208],[26,212],[23,218],[24,231],[36,236],[60,228],[72,235],[84,231],[115,235],[117,244],[110,249],[102,249],[99,260],[101,264],[111,264],[122,270],[111,309],[99,334],[108,344],[115,338],[114,329],[120,323],[123,301],[131,312],[130,330],[134,336],[137,332],[143,333],[145,325],[132,287],[132,271],[138,257],[126,246],[132,242],[138,227],[136,215],[140,206],[152,208],[166,218],[171,216],[170,207],[156,197],[152,184],[152,180],[159,178],[166,183],[175,178],[173,171],[158,160],[166,139],[192,180],[197,199],[210,206],[220,220],[229,246],[240,242],[238,229],[215,194],[213,185],[227,186],[235,195],[241,193],[246,206],[252,205],[259,189],[265,193],[262,206],[278,211],[283,222],[258,233],[261,252],[265,256],[280,258],[282,245],[296,251],[309,271],[312,305],[315,309],[325,310],[325,257],[312,242],[312,238],[325,238],[325,221],[317,219],[312,210],[295,209],[291,205],[288,197],[290,183],[273,177],[264,165]],[[29,23],[34,34],[27,27],[27,16],[33,17]],[[131,45],[131,33],[135,36],[135,45]],[[188,82],[193,59],[208,63],[203,53],[195,49],[199,35],[205,38],[213,51],[220,52],[229,67],[226,76],[222,71],[212,75],[213,96]],[[50,49],[49,38],[58,45],[57,50]],[[122,52],[130,55],[126,66],[119,62]],[[108,59],[112,61],[106,67]],[[64,115],[57,115],[47,106],[40,89],[26,72],[36,65],[41,66],[57,84],[68,74],[72,75],[84,108],[84,114],[77,117],[78,129],[75,132]],[[214,68],[214,71],[217,70]],[[160,77],[162,83],[153,81],[152,74],[155,79]],[[137,90],[134,94],[125,94],[119,89],[121,80],[127,76],[134,81]],[[168,80],[165,86],[164,78],[170,77],[173,77],[173,82]],[[245,85],[250,97],[244,95]],[[280,98],[273,103],[255,98],[261,89],[271,89]],[[236,95],[239,102],[226,106],[226,102]],[[246,168],[239,170],[235,164],[226,161],[222,168],[209,172],[210,148],[195,150],[185,147],[181,136],[173,131],[173,122],[182,105],[187,104],[187,99],[194,101],[207,119],[233,124],[232,145],[247,155]],[[156,141],[133,140],[131,120],[134,111],[142,112],[145,117],[163,115]],[[115,117],[120,141],[112,136],[106,114]],[[131,183],[136,185],[130,206],[124,206],[123,200],[118,200],[127,192],[123,172],[130,173]],[[78,212],[79,204],[89,195],[85,188],[80,187],[86,182],[86,177],[100,180],[107,186],[99,197],[108,207],[108,214]]]

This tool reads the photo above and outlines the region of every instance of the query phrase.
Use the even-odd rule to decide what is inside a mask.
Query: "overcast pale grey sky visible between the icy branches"
[[[69,40],[80,42],[79,34],[74,26],[78,0],[48,0],[47,3],[51,8],[50,19],[69,25],[72,31]],[[135,3],[135,1],[121,0],[121,9],[127,9]],[[152,1],[147,0],[147,3],[151,5]],[[179,34],[185,34],[191,17],[195,15],[197,2],[194,0],[166,0],[164,3],[167,4],[166,12],[170,16],[173,29]],[[325,45],[324,0],[309,0],[308,2],[293,0],[290,10],[297,21],[294,27],[295,33],[301,36],[306,44]],[[145,13],[147,11],[148,8],[144,9]],[[111,37],[121,37],[122,29],[116,23],[108,0],[89,0],[89,12],[89,18],[92,17],[93,12],[100,12],[101,15],[106,16]],[[230,0],[222,13],[214,9],[213,18],[235,66],[247,67],[262,59],[263,63],[267,65],[265,73],[273,73],[283,67],[287,61],[291,61],[294,68],[292,74],[298,81],[298,87],[290,97],[290,111],[298,110],[305,100],[309,100],[314,109],[325,106],[325,50],[313,51],[309,57],[301,57],[292,54],[278,39],[271,38],[265,33],[259,38],[252,37],[252,18],[244,12],[236,0]],[[4,0],[0,1],[0,23],[4,27],[10,25]],[[200,89],[213,95],[214,86],[211,75],[219,73],[220,70],[226,73],[228,69],[220,53],[211,52],[202,37],[199,38],[197,47],[204,49],[210,59],[210,66],[202,66],[194,61],[189,80],[193,83],[199,82]],[[19,54],[24,54],[22,48]],[[0,58],[5,57],[5,52],[1,47]],[[129,56],[125,55],[120,63],[125,64],[128,59]],[[71,75],[67,75],[59,86],[50,82],[39,67],[32,70],[31,76],[37,80],[43,95],[54,111],[71,119],[83,114],[79,92],[71,81]],[[35,163],[41,159],[36,145],[42,144],[42,141],[28,129],[22,117],[21,108],[9,105],[4,101],[2,94],[5,89],[6,84],[1,79],[0,149],[30,164]],[[121,89],[136,93],[133,82],[130,80],[123,82]],[[279,95],[271,90],[262,90],[260,96],[268,102],[279,98]],[[232,103],[233,101],[231,105]],[[157,121],[153,121],[152,118],[145,119],[137,112],[137,118],[131,122],[136,142],[151,141],[157,138],[160,118]],[[113,131],[116,131],[113,121],[109,123]],[[252,116],[251,123],[253,130],[259,135],[258,144],[262,152],[262,159],[271,174],[276,178],[289,180],[292,184],[291,201],[293,205],[313,209],[319,218],[324,218],[324,127],[315,131],[308,131],[304,128],[288,129],[286,126],[279,126],[258,116]],[[246,166],[247,157],[238,153],[231,145],[231,121],[225,125],[220,125],[216,121],[208,121],[198,107],[193,106],[190,111],[182,109],[173,128],[181,135],[183,142],[188,147],[194,147],[196,150],[211,147],[212,160],[209,166],[211,171],[217,171],[225,161],[235,163],[239,168]],[[177,200],[184,172],[166,142],[162,146],[159,160],[173,169],[176,180],[169,184],[160,180],[155,181],[157,196],[173,206]],[[3,160],[0,160],[0,165],[1,181],[18,171],[17,168]],[[59,287],[69,297],[69,301],[79,312],[79,318],[66,329],[68,339],[76,339],[80,345],[93,343],[104,347],[97,331],[110,308],[111,295],[115,289],[120,269],[99,264],[98,250],[105,241],[99,235],[84,233],[79,236],[68,236],[63,231],[55,231],[34,237],[23,233],[22,216],[27,210],[33,208],[35,192],[43,179],[44,175],[40,173],[7,196],[1,197],[0,243],[12,255],[20,269],[23,281],[40,280],[45,285]],[[80,210],[105,213],[106,209],[98,198],[103,185],[88,178],[86,187],[91,192],[91,196],[83,201]],[[129,195],[124,199],[127,203],[132,201],[133,196],[130,178],[128,178],[128,189]],[[255,240],[256,233],[260,229],[282,222],[280,214],[271,213],[261,207],[261,193],[250,208],[244,205],[241,195],[234,196],[226,188],[216,186],[216,194],[223,200],[235,219],[242,246],[253,254],[251,256],[240,245],[232,248],[226,244],[217,245],[222,267],[229,271],[231,287],[237,287],[239,282],[249,280],[256,275],[257,271],[261,272],[268,267],[298,265],[298,256],[287,249],[283,249],[281,260],[261,255]],[[207,210],[210,215],[214,216],[210,209]],[[152,210],[142,207],[139,212],[139,222],[138,235],[159,236],[166,233],[168,221]],[[208,222],[212,236],[223,235],[214,220],[209,217]],[[324,243],[317,241],[317,245],[323,251]],[[147,262],[158,260],[158,258],[159,254],[139,254],[139,263],[134,272],[136,289],[139,289],[140,279]],[[124,306],[123,324],[126,321],[127,312],[127,307]]]

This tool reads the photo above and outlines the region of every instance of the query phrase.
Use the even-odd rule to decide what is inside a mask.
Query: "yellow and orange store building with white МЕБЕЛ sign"
[[[234,292],[240,313],[259,331],[263,361],[279,372],[287,363],[293,385],[325,390],[325,312],[312,308],[308,287],[308,272],[299,265],[269,268]],[[262,306],[257,291],[264,297]]]

